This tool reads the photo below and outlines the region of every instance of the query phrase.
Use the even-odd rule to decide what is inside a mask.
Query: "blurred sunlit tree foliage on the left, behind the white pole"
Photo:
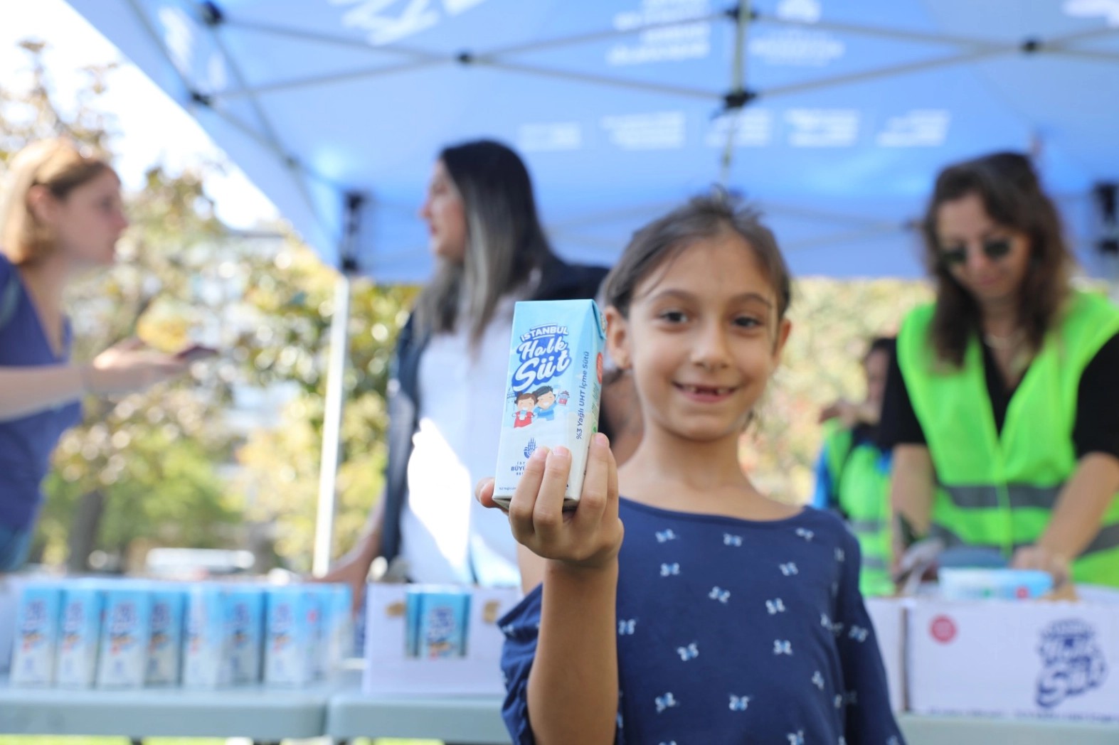
[[[21,46],[27,68],[0,87],[0,163],[27,142],[59,135],[107,153],[114,117],[100,98],[113,66],[84,70],[85,84],[62,105],[45,45]],[[84,402],[84,421],[64,436],[46,483],[39,545],[50,563],[69,555],[70,568],[84,569],[100,549],[137,568],[137,549],[158,545],[253,544],[266,555],[273,538],[291,564],[307,563],[336,274],[291,237],[231,236],[204,189],[215,168],[199,163],[169,173],[153,166],[143,189],[126,195],[132,228],[117,246],[116,266],[82,281],[67,298],[77,360],[130,336],[164,350],[200,340],[222,356],[196,364],[187,379]],[[411,294],[354,286],[339,479],[342,548],[379,493],[383,394]],[[280,428],[253,433],[234,425],[244,392],[281,383],[290,393],[274,417]]]

